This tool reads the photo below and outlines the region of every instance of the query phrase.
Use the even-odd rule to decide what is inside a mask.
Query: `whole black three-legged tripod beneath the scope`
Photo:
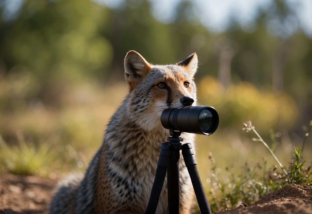
[[[155,180],[153,183],[151,195],[149,197],[149,203],[144,214],[155,213],[167,169],[169,214],[179,213],[179,158],[181,149],[185,165],[188,168],[188,173],[193,184],[199,209],[202,214],[211,214],[210,206],[207,201],[207,197],[202,187],[202,182],[200,181],[197,171],[196,160],[192,150],[192,145],[190,143],[185,143],[182,145],[181,141],[183,141],[183,138],[179,137],[181,135],[181,132],[173,131],[172,129],[170,129],[170,135],[172,137],[168,137],[168,142],[161,144]]]

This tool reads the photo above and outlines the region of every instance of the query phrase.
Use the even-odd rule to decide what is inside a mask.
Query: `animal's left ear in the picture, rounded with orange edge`
[[[136,51],[129,51],[124,58],[124,74],[132,91],[152,69],[143,56]]]

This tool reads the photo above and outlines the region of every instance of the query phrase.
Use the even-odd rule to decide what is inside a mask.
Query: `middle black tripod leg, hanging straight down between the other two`
[[[177,153],[180,155],[179,151]],[[180,207],[179,159],[169,159],[167,182],[169,214],[178,214]]]

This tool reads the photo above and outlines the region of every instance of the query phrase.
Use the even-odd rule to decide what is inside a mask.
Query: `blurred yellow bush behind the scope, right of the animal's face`
[[[224,89],[218,80],[206,76],[198,83],[198,97],[202,105],[216,108],[221,127],[252,120],[261,130],[276,126],[291,129],[298,119],[298,109],[290,95],[259,90],[249,82]]]

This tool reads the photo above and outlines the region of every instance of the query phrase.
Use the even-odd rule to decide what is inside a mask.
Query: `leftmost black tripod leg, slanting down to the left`
[[[149,203],[147,205],[147,208],[144,214],[152,214],[152,213],[155,213],[156,211],[157,204],[159,201],[159,196],[163,188],[163,182],[166,177],[169,157],[171,154],[169,149],[170,149],[170,145],[167,145],[165,143],[161,145],[155,179],[154,179],[151,195],[149,197]]]

